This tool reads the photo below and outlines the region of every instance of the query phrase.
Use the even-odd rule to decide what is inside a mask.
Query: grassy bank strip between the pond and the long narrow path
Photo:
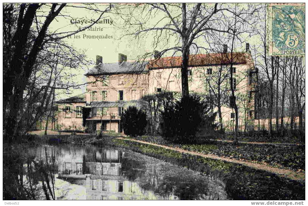
[[[225,184],[229,198],[235,200],[302,200],[305,183],[278,177],[276,174],[253,169],[245,165],[183,154],[158,146],[145,145],[122,139],[112,139],[111,144],[162,159],[188,169],[220,179]],[[203,147],[215,148],[215,144]]]

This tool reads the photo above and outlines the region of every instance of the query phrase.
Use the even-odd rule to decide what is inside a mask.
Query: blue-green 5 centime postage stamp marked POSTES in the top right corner
[[[270,3],[267,20],[270,55],[305,55],[305,3]]]

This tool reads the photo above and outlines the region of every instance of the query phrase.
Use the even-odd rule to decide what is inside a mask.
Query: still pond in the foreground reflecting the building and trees
[[[5,200],[227,199],[219,181],[130,150],[19,146],[3,155]]]

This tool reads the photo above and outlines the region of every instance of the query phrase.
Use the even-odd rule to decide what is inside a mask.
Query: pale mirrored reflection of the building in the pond
[[[86,200],[164,199],[123,175],[123,157],[124,152],[110,149],[65,152],[57,159],[58,178],[85,180]],[[177,198],[171,195],[168,199]]]

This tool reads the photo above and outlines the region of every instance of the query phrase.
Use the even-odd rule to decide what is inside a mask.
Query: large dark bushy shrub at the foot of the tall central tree
[[[216,113],[210,114],[209,104],[201,95],[182,97],[174,106],[161,112],[162,135],[172,142],[196,142],[196,133],[201,129],[213,131]]]

